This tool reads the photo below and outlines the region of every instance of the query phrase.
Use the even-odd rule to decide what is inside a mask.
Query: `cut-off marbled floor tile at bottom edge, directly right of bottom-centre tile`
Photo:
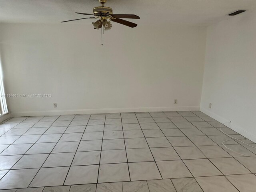
[[[170,179],[147,181],[150,192],[176,192]]]

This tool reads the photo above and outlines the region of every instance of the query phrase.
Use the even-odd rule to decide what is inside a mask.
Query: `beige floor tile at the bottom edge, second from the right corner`
[[[224,176],[197,177],[196,181],[204,192],[238,192]]]

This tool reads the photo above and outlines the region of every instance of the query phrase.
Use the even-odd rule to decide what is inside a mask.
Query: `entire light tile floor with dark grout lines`
[[[200,111],[11,118],[0,191],[255,192],[256,158],[220,126],[256,146]]]

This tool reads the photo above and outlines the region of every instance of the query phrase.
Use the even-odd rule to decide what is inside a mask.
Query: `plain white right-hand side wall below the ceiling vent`
[[[208,26],[200,110],[256,142],[256,13]]]

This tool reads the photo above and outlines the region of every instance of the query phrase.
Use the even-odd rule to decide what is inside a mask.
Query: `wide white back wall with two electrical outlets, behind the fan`
[[[2,23],[0,37],[6,94],[52,94],[8,98],[12,116],[199,109],[205,27],[114,23],[104,46],[92,24]]]

